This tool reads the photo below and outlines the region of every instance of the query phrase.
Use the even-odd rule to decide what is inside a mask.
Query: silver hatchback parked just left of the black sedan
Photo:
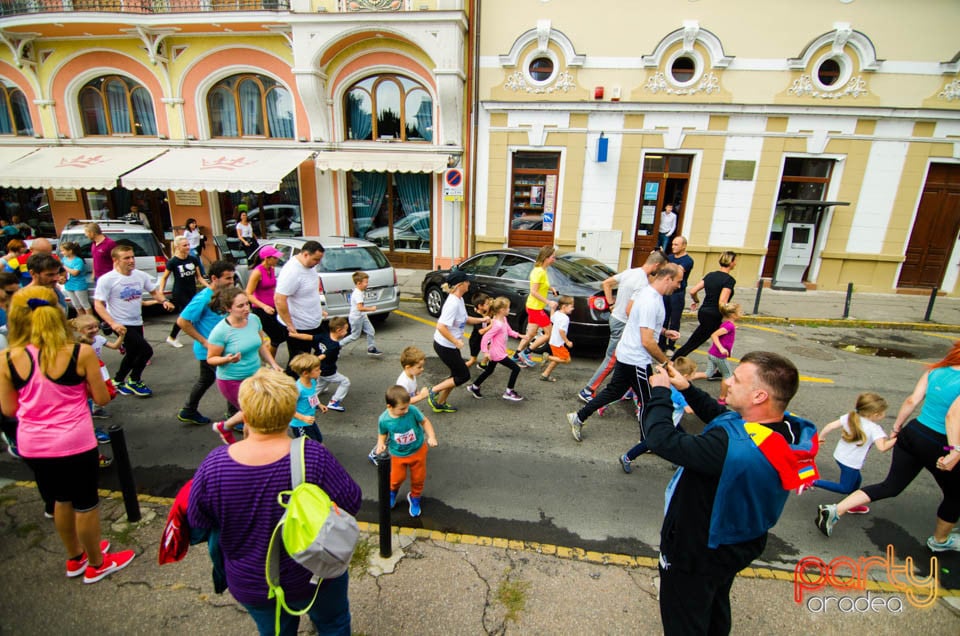
[[[364,304],[376,305],[377,310],[370,313],[374,322],[384,321],[390,312],[400,307],[400,286],[397,273],[380,248],[369,241],[342,236],[305,236],[276,238],[260,241],[260,246],[249,262],[237,259],[236,278],[241,287],[245,287],[249,278],[251,264],[259,262],[260,250],[270,245],[283,255],[283,265],[300,253],[307,241],[320,241],[326,250],[323,260],[317,265],[320,272],[321,290],[325,297],[327,313],[333,316],[346,316],[350,313],[350,294],[353,293],[353,273],[363,271],[370,276],[370,284],[365,292]]]

